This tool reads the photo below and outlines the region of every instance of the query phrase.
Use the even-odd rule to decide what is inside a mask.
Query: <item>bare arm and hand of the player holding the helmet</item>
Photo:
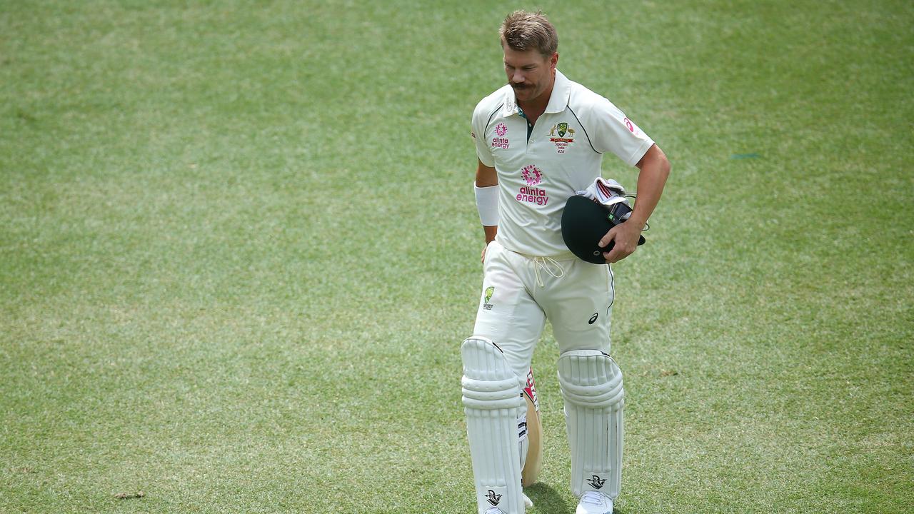
[[[634,202],[632,216],[606,232],[600,240],[600,246],[605,247],[610,241],[615,241],[611,252],[603,252],[606,262],[619,262],[631,255],[638,248],[638,237],[644,229],[647,219],[651,217],[660,195],[664,192],[666,177],[670,175],[670,162],[666,159],[664,151],[657,145],[652,145],[635,166],[638,173],[638,198]]]

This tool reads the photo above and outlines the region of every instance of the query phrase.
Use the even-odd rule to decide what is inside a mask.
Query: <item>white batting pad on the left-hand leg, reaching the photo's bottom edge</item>
[[[524,382],[485,337],[464,340],[461,354],[463,412],[479,514],[493,507],[524,514],[518,444],[518,419],[526,412]]]

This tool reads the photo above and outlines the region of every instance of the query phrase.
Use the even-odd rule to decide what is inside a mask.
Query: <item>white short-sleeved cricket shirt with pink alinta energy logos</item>
[[[498,173],[498,241],[544,257],[572,255],[562,241],[562,209],[600,177],[603,154],[634,166],[654,145],[612,102],[558,70],[529,137],[508,84],[476,105],[471,134],[479,160]]]

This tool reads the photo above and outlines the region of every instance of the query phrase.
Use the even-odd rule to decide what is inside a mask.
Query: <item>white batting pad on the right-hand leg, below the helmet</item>
[[[558,385],[571,447],[571,490],[615,499],[622,483],[622,371],[600,351],[568,351],[558,358]]]

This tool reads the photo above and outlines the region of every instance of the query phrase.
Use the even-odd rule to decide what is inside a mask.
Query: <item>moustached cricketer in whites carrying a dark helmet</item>
[[[473,111],[475,193],[485,233],[484,283],[473,337],[462,344],[462,393],[478,514],[524,514],[523,390],[533,351],[552,324],[577,514],[612,512],[622,478],[622,372],[610,357],[612,262],[637,248],[669,163],[610,101],[556,69],[558,36],[540,13],[517,11],[500,30],[508,83]],[[609,230],[606,264],[562,240],[569,197],[607,193],[610,152],[639,168],[631,217]],[[601,189],[601,190],[600,190]],[[621,187],[619,187],[621,189]],[[609,250],[609,249],[608,249]]]

